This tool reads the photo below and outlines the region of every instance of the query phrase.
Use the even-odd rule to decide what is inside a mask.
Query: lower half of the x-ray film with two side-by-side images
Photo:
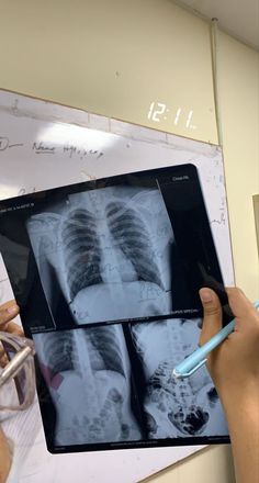
[[[181,318],[35,334],[49,393],[46,411],[53,414],[52,427],[44,425],[50,451],[227,436],[206,369],[184,381],[172,377],[176,363],[196,347],[199,335],[198,319]]]

